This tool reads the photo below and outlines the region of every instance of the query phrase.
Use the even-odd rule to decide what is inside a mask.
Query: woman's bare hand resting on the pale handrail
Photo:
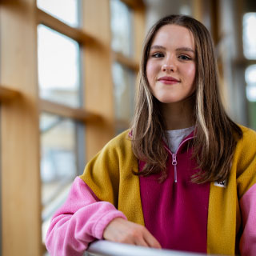
[[[106,226],[103,232],[103,238],[113,242],[161,249],[159,242],[150,234],[145,226],[126,221],[123,218],[114,218]]]

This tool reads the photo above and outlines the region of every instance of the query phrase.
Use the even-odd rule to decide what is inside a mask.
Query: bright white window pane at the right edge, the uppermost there
[[[256,59],[256,13],[243,16],[243,52],[246,58]]]

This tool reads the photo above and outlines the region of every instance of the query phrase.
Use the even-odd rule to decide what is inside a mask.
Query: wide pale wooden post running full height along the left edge
[[[42,255],[35,9],[35,0],[0,5],[0,84],[22,94],[1,104],[2,255]]]

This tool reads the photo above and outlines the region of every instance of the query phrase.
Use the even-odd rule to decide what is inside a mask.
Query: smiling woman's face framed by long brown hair
[[[154,97],[162,103],[182,102],[194,92],[194,36],[184,26],[165,25],[155,34],[146,62]]]

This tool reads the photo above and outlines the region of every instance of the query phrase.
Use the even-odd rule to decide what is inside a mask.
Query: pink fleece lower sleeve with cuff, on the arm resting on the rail
[[[114,218],[125,218],[110,202],[99,201],[81,178],[75,178],[64,205],[54,214],[46,234],[50,255],[82,255],[88,244],[102,239]]]

